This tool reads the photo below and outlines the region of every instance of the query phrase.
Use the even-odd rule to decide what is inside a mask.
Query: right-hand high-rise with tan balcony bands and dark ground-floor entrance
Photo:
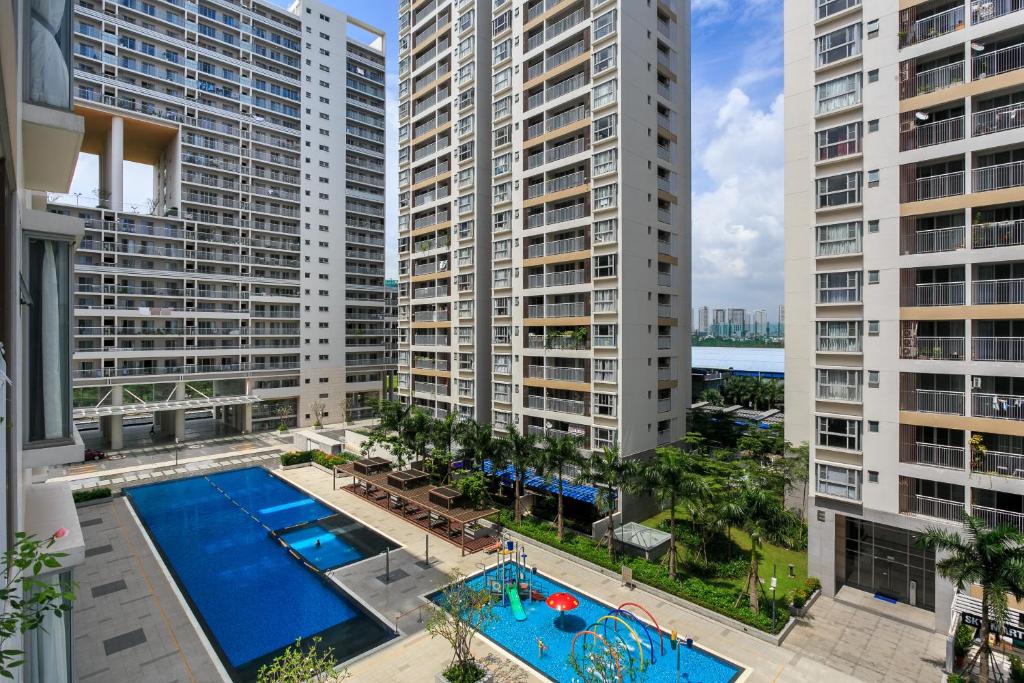
[[[914,544],[1024,528],[1024,24],[1015,2],[785,3],[786,438],[810,572],[949,621]],[[981,447],[983,446],[983,447]]]

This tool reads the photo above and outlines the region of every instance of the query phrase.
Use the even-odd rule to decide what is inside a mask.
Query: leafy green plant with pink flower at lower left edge
[[[48,539],[39,540],[17,531],[10,550],[3,554],[0,677],[14,678],[13,670],[25,664],[25,652],[10,647],[10,641],[18,634],[41,628],[47,615],[63,616],[67,605],[75,599],[74,585],[39,579],[40,572],[60,567],[60,559],[67,554],[49,549],[67,532],[59,528]]]

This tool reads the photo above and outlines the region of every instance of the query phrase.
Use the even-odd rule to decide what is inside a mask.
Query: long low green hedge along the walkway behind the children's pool
[[[564,540],[559,541],[557,531],[547,524],[541,524],[531,520],[523,520],[522,523],[516,524],[513,520],[508,519],[505,513],[499,515],[496,521],[513,531],[557,548],[588,562],[593,562],[616,573],[621,570],[622,565],[630,566],[633,569],[633,580],[637,583],[646,584],[670,595],[688,600],[701,607],[714,610],[719,614],[752,626],[759,631],[777,634],[782,630],[787,621],[788,612],[785,609],[784,599],[779,601],[779,611],[784,616],[778,618],[773,628],[770,610],[755,613],[745,602],[740,602],[736,606],[736,593],[734,590],[712,586],[697,578],[689,578],[683,582],[679,582],[669,575],[667,567],[649,562],[641,557],[622,556],[612,561],[608,557],[606,547],[599,546],[592,539],[572,531],[566,531]],[[766,601],[766,604],[770,604],[770,601]]]

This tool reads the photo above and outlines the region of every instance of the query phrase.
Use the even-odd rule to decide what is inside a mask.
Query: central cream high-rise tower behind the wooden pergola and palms
[[[585,449],[678,439],[688,6],[400,12],[400,392]]]

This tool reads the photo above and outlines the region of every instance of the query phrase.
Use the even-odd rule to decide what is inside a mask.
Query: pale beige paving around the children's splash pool
[[[333,490],[331,475],[313,468],[281,473],[292,483],[345,510],[369,526],[398,541],[402,550],[391,554],[392,582],[384,585],[384,558],[364,560],[336,572],[339,582],[359,595],[409,637],[396,641],[349,667],[353,680],[371,683],[420,683],[440,671],[451,658],[447,643],[431,639],[418,623],[420,596],[446,583],[447,573],[479,571],[487,555],[461,557],[459,548],[432,539],[430,568],[423,568],[423,529],[403,521],[360,497]],[[545,552],[527,544],[528,562],[546,575],[588,593],[609,604],[637,602],[649,609],[665,629],[676,629],[693,637],[696,644],[750,670],[751,683],[844,683],[885,680],[896,683],[939,680],[945,656],[941,634],[888,620],[850,604],[821,598],[809,616],[776,647],[762,640],[666,603],[641,589],[628,590],[620,582]],[[395,577],[397,577],[395,579]],[[523,672],[521,666],[483,639],[474,651],[485,656],[500,680],[542,680]]]

